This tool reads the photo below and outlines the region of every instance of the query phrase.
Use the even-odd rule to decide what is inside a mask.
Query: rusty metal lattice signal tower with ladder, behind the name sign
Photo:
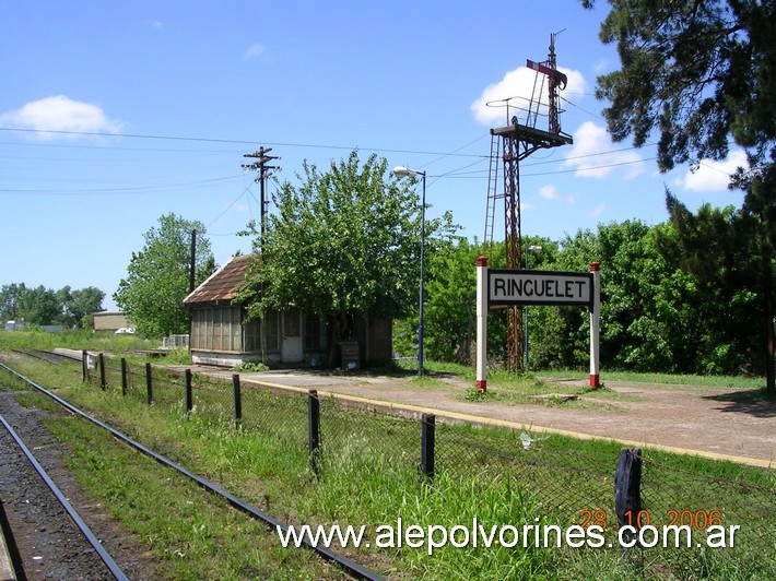
[[[520,161],[541,149],[559,147],[573,143],[571,135],[561,131],[559,91],[566,86],[566,75],[555,66],[555,36],[550,36],[550,55],[544,62],[526,62],[537,72],[530,99],[513,97],[497,103],[506,106],[507,123],[505,127],[491,129],[491,162],[487,177],[487,209],[485,212],[485,236],[483,252],[493,264],[494,226],[496,205],[504,205],[504,246],[507,269],[522,268],[522,236],[520,224]],[[541,96],[546,84],[546,103]],[[528,100],[527,107],[510,107],[515,98]],[[495,106],[489,103],[490,106]],[[515,115],[510,116],[510,112]],[[537,128],[539,118],[546,117],[546,130]],[[499,164],[501,157],[501,164]],[[498,178],[498,167],[503,167],[503,179]],[[499,190],[499,185],[503,189]],[[522,307],[506,308],[507,345],[506,367],[517,371],[522,367]]]

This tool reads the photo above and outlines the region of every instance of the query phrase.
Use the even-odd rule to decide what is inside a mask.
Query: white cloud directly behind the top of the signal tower
[[[557,70],[568,78],[566,85],[568,91],[579,94],[586,92],[585,78],[580,72],[562,67],[559,67]],[[543,76],[541,73],[537,73],[537,71],[528,67],[518,67],[514,71],[507,72],[499,82],[486,86],[477,100],[471,104],[474,118],[479,122],[490,127],[507,124],[513,116],[517,116],[519,122],[525,123],[527,116],[526,110],[530,103],[531,95],[533,94],[537,74]],[[539,95],[542,104],[540,114],[544,115],[543,119],[546,119],[546,83],[544,83],[543,86],[539,84],[538,90],[541,90],[541,95]],[[507,104],[504,99],[510,99],[508,103],[508,112]],[[487,105],[489,103],[491,106]],[[541,120],[539,124],[541,124]]]

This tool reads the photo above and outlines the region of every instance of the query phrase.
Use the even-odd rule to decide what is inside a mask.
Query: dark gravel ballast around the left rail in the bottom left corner
[[[62,490],[117,565],[130,579],[153,579],[148,547],[127,534],[108,514],[81,491],[62,459],[69,454],[40,424],[49,415],[19,405],[15,394],[0,386],[0,414],[33,452],[49,477]],[[64,413],[64,412],[62,412]],[[19,579],[113,579],[64,509],[23,455],[16,442],[0,426],[0,508],[3,529],[10,526],[10,549],[23,570]]]

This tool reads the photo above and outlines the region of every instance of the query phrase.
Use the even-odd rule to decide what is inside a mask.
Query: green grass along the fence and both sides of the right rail
[[[416,472],[416,423],[344,410],[324,400],[324,449],[320,472],[315,474],[306,453],[305,396],[244,390],[244,419],[235,428],[226,384],[198,378],[195,410],[186,414],[180,384],[166,383],[161,371],[154,377],[154,404],[149,406],[143,381],[122,398],[115,371],[103,392],[81,384],[79,369],[68,370],[68,365],[24,361],[23,372],[59,386],[57,391],[77,405],[287,522],[376,526],[401,518],[405,523],[451,527],[478,517],[485,525],[530,524],[537,518],[571,524],[579,522],[584,510],[608,508],[607,521],[612,523],[612,478],[620,452],[615,442],[534,437],[524,450],[517,432],[440,425],[437,476],[425,482]],[[38,396],[24,398],[34,403]],[[154,547],[162,577],[273,577],[279,571],[283,577],[331,576],[315,559],[296,561],[299,552],[271,548],[264,555],[262,548],[256,554],[251,547],[272,546],[272,534],[262,536],[260,526],[235,517],[166,471],[111,450],[121,447],[89,434],[75,418],[56,417],[50,427],[74,450],[73,469],[84,485],[116,505],[126,526]],[[698,510],[724,503],[727,521],[748,527],[746,544],[731,553],[660,549],[628,559],[605,549],[504,546],[446,547],[432,555],[425,546],[346,553],[391,577],[410,578],[773,577],[776,565],[773,556],[766,557],[776,535],[773,493],[763,496],[751,486],[773,490],[774,472],[656,451],[645,455],[649,460],[644,467],[645,508],[656,521],[671,508]],[[749,484],[730,484],[733,481]],[[200,505],[201,514],[192,508]],[[751,533],[759,530],[771,531],[769,536],[757,540]],[[763,542],[766,545],[759,544]]]

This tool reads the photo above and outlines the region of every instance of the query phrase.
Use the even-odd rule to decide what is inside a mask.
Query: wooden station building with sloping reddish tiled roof
[[[184,299],[191,311],[192,361],[227,367],[258,361],[313,367],[326,363],[331,333],[318,317],[291,308],[269,311],[263,321],[247,321],[245,306],[235,303],[234,297],[250,258],[233,257]],[[344,367],[385,365],[391,360],[389,320],[356,318],[354,330],[356,341],[341,344]],[[339,364],[334,361],[332,367]]]

